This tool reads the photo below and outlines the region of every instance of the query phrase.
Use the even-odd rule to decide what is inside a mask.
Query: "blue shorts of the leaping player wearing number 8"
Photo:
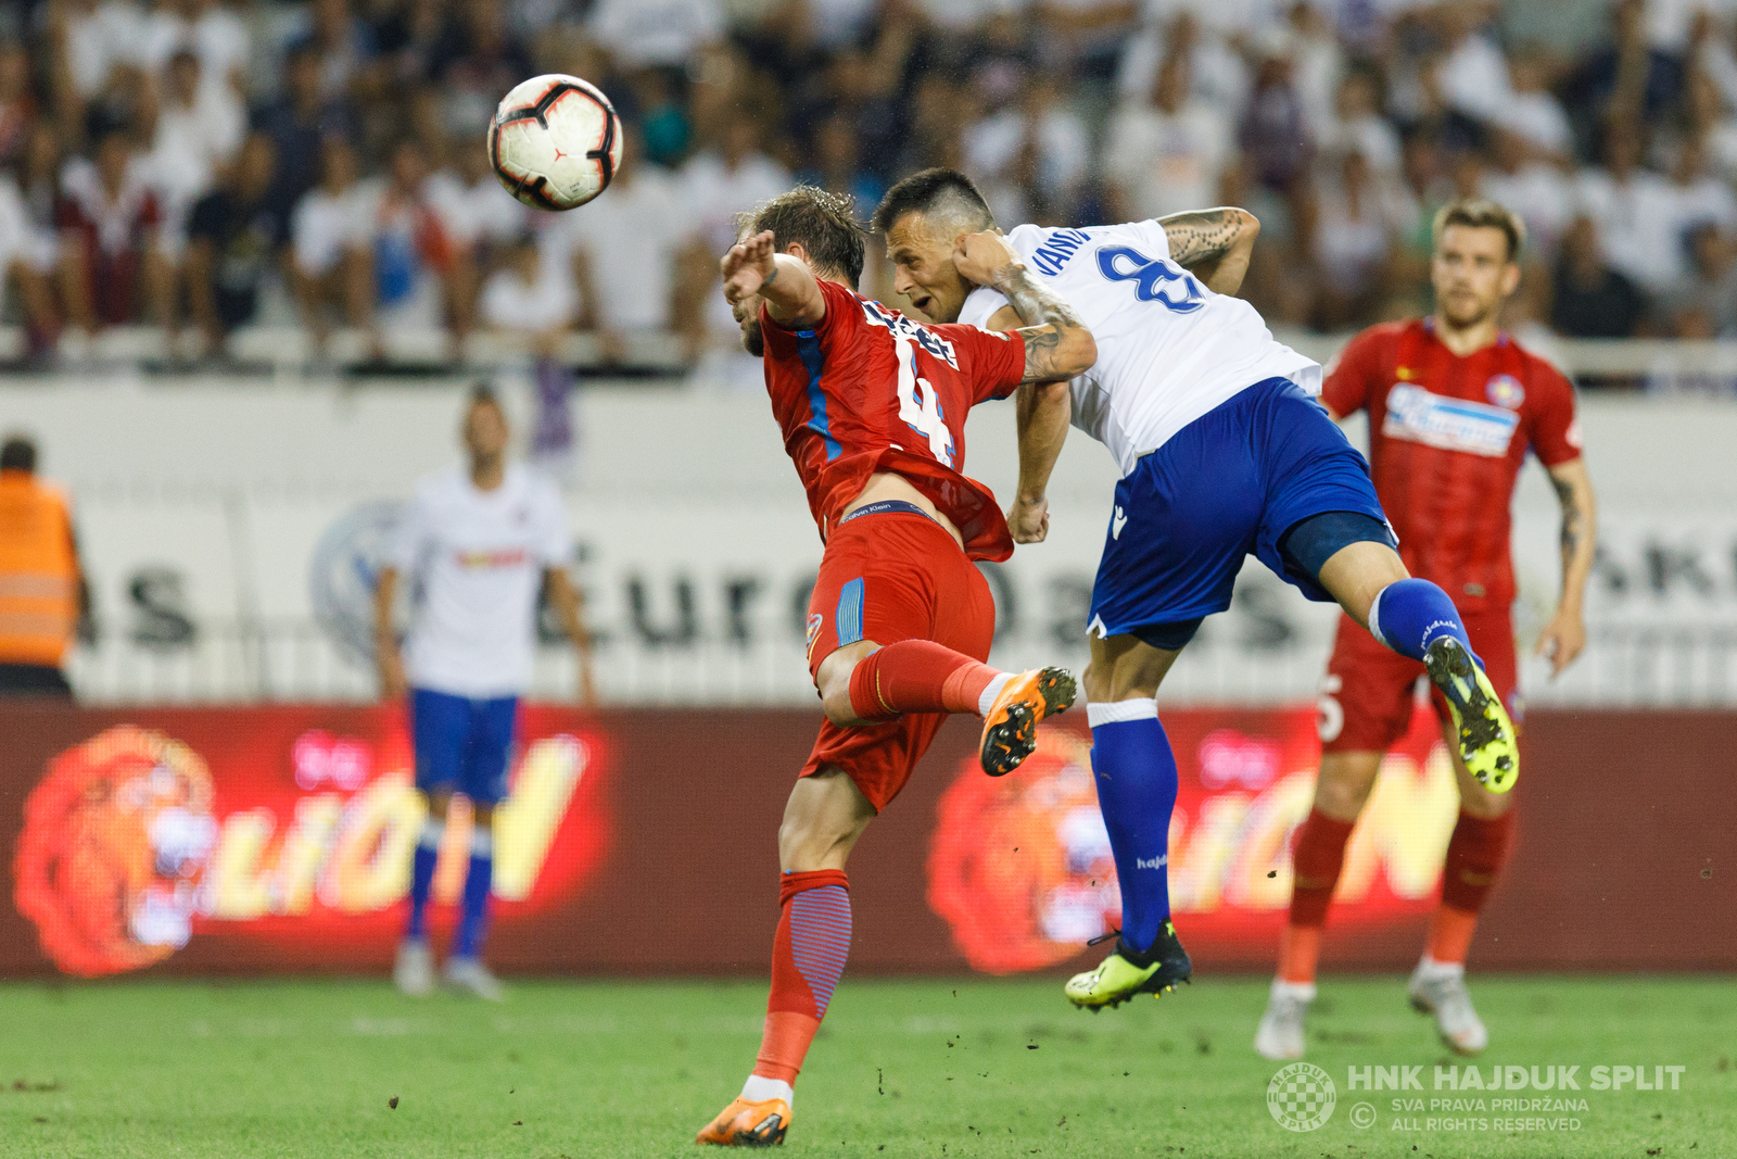
[[[1249,554],[1310,599],[1331,601],[1315,575],[1278,551],[1299,520],[1329,511],[1386,527],[1369,464],[1320,403],[1289,379],[1251,386],[1143,455],[1115,485],[1091,632],[1139,636],[1223,612]]]

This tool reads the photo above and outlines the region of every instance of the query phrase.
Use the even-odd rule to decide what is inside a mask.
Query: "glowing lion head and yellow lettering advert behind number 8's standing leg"
[[[1291,831],[1308,815],[1320,745],[1306,711],[1172,711],[1178,758],[1167,876],[1171,911],[1202,950],[1277,940],[1291,902]],[[1454,770],[1433,716],[1381,765],[1346,846],[1334,921],[1381,928],[1433,905],[1457,815]],[[929,907],[973,970],[1056,966],[1120,924],[1110,834],[1091,740],[1039,732],[1016,777],[962,761],[936,806]]]

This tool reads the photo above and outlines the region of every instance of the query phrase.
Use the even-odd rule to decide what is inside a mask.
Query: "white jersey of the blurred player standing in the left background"
[[[410,685],[474,700],[523,692],[542,573],[570,551],[561,495],[528,467],[509,464],[492,492],[464,467],[424,478],[387,558],[417,593]]]

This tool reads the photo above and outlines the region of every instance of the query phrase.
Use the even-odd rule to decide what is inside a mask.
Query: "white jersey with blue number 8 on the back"
[[[1108,447],[1122,474],[1256,382],[1291,379],[1320,394],[1320,365],[1277,342],[1252,306],[1214,294],[1172,262],[1155,221],[1020,226],[1007,242],[1098,341],[1098,363],[1072,382],[1073,426]],[[1006,304],[978,288],[959,321],[988,325]]]

